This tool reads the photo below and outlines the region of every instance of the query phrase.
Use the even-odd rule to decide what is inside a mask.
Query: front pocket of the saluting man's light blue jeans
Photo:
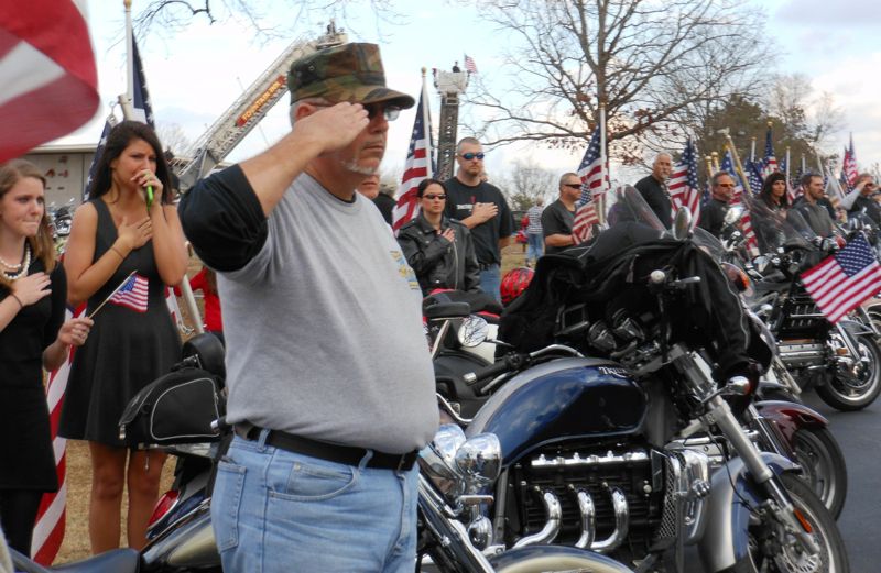
[[[330,499],[358,483],[357,467],[297,456],[286,481],[270,485],[270,497],[293,502]]]

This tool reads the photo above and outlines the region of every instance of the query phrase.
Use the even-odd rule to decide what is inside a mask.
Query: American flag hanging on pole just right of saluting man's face
[[[420,183],[431,177],[435,170],[432,157],[432,124],[427,104],[428,97],[425,84],[423,84],[420,104],[416,107],[416,119],[413,121],[410,148],[404,162],[404,175],[401,178],[401,195],[398,197],[398,205],[392,210],[392,230],[395,235],[404,223],[418,214],[420,199],[416,197],[416,189]]]

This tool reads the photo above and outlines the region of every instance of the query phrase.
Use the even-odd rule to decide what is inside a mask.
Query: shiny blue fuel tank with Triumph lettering
[[[645,412],[645,395],[620,364],[559,359],[508,381],[480,408],[466,434],[498,436],[509,465],[562,440],[638,433]]]

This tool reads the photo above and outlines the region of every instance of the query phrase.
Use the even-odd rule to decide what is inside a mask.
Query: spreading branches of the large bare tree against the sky
[[[600,102],[610,142],[667,136],[689,109],[743,91],[763,64],[760,15],[739,0],[496,0],[485,14],[519,40],[507,57],[514,89],[472,98],[490,113],[489,144],[583,146]]]

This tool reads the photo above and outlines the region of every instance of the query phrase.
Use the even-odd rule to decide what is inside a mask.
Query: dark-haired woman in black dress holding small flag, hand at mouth
[[[184,277],[188,256],[172,205],[168,166],[151,128],[123,121],[107,137],[90,199],[77,209],[64,267],[67,298],[97,308],[89,342],[70,370],[58,433],[87,440],[91,454],[89,537],[95,553],[120,544],[120,505],[128,485],[129,546],[146,542],[164,458],[131,451],[119,418],[132,396],[180,360],[181,340],[165,305],[165,285]]]

